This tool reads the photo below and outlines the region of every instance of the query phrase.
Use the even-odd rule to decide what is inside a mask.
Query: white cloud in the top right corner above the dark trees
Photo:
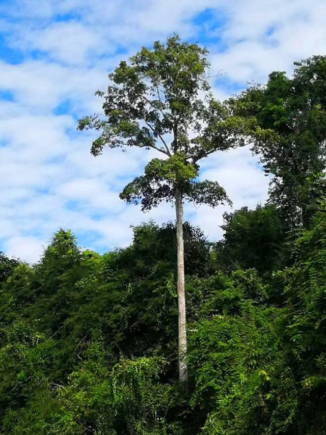
[[[233,0],[224,11],[228,20],[216,32],[227,48],[221,53],[210,47],[211,59],[233,80],[263,83],[269,72],[291,73],[293,61],[326,51],[322,0]]]

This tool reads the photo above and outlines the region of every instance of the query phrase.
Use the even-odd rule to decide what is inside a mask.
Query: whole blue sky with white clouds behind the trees
[[[268,73],[326,51],[323,0],[2,0],[0,3],[0,250],[35,262],[53,232],[71,229],[98,252],[130,242],[130,225],[174,219],[119,200],[151,152],[89,153],[79,117],[100,111],[107,74],[142,45],[173,33],[206,45],[214,94],[224,99]],[[211,156],[234,208],[266,198],[268,180],[249,149]],[[186,218],[221,237],[226,208],[186,206]]]

